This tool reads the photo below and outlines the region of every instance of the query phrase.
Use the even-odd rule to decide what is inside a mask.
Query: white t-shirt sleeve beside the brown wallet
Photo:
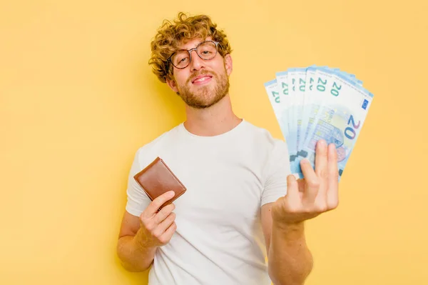
[[[140,152],[141,150],[138,149],[133,159],[131,170],[128,174],[128,186],[126,189],[128,200],[126,202],[125,209],[126,211],[128,211],[129,214],[133,214],[134,216],[140,216],[144,209],[146,209],[148,204],[151,203],[151,200],[150,198],[148,198],[146,192],[133,178],[135,174],[142,170],[140,163]]]

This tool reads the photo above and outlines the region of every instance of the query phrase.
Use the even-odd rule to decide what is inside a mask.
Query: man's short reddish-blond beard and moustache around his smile
[[[190,86],[192,85],[192,80],[196,76],[200,75],[210,75],[213,76],[211,80],[215,80],[217,83],[213,89],[212,85],[208,84],[205,86],[196,86],[197,91],[190,91]],[[183,99],[186,105],[193,107],[195,109],[205,109],[210,106],[213,106],[218,101],[223,99],[226,94],[229,92],[229,77],[224,72],[223,74],[215,74],[214,72],[202,71],[198,74],[193,74],[185,82],[184,85],[178,85],[178,96]]]

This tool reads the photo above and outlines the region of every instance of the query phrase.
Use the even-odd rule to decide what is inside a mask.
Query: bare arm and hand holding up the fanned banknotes
[[[275,285],[302,285],[313,260],[305,241],[304,222],[338,204],[337,152],[334,144],[317,144],[315,169],[300,163],[304,179],[287,176],[287,194],[262,207],[268,270]]]

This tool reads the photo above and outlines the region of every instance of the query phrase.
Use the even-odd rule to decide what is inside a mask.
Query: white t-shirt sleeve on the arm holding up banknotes
[[[275,202],[287,194],[287,176],[291,174],[290,156],[285,141],[275,140],[265,169],[265,187],[261,205]]]

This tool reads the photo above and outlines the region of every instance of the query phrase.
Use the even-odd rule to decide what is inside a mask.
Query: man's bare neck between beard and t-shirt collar
[[[229,95],[206,109],[185,106],[185,128],[198,136],[216,136],[235,128],[242,119],[233,113]]]

